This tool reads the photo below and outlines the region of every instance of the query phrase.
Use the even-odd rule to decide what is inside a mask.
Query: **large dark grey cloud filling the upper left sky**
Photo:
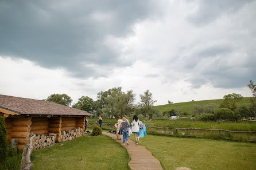
[[[105,38],[132,34],[134,23],[155,9],[144,1],[1,1],[0,55],[64,68],[73,76],[104,76],[96,70],[133,62]]]

